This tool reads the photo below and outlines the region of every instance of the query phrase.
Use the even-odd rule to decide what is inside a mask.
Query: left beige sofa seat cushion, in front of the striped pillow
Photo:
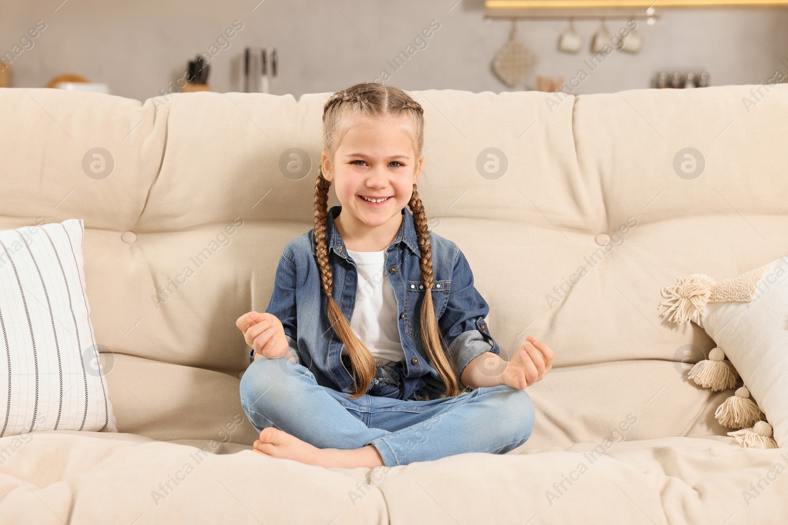
[[[251,447],[214,454],[137,434],[24,437],[0,439],[3,524],[388,523],[381,493],[359,493],[366,468],[319,468]],[[351,501],[353,492],[362,497]]]

